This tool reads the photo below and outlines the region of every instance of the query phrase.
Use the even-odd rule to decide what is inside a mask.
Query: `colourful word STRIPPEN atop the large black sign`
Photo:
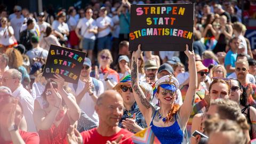
[[[173,15],[183,15],[185,12],[185,7],[178,6],[150,6],[150,7],[137,7],[137,15],[142,14],[173,14]]]

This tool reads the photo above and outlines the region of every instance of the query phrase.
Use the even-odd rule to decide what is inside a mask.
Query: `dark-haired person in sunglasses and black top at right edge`
[[[249,130],[250,138],[256,139],[256,109],[247,104],[247,94],[242,84],[237,79],[230,79],[230,81],[230,100],[239,104],[247,123],[251,127]]]

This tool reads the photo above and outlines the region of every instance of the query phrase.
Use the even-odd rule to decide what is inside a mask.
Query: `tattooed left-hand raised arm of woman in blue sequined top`
[[[151,122],[151,116],[153,114],[154,107],[146,99],[145,94],[139,86],[139,70],[138,70],[138,58],[141,54],[140,45],[138,50],[132,53],[132,63],[131,63],[131,78],[132,78],[132,89],[133,95],[140,108],[142,115],[145,117],[146,123],[149,126]]]

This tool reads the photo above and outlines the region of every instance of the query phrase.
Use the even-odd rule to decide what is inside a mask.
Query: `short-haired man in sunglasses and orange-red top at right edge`
[[[256,85],[251,84],[247,79],[246,75],[249,74],[249,63],[248,61],[238,60],[236,62],[236,76],[238,81],[245,87],[246,94],[248,95],[248,102],[251,106],[256,108]]]

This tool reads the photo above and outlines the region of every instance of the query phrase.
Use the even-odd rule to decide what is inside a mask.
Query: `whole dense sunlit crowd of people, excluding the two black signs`
[[[131,52],[131,4],[150,3],[1,6],[0,143],[133,143],[147,127],[161,143],[256,141],[256,50],[242,23],[256,2],[242,13],[241,1],[196,1],[193,51]],[[86,52],[77,84],[43,77],[51,44]]]

